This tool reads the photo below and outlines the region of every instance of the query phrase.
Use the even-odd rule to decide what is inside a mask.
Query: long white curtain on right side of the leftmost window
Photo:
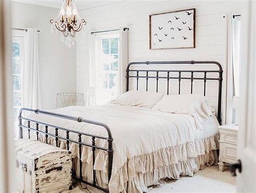
[[[22,105],[26,108],[41,108],[36,29],[27,29],[25,35],[22,66]]]

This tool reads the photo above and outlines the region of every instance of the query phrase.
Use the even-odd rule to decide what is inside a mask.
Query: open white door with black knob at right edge
[[[241,161],[241,173],[237,170],[238,192],[256,191],[255,6],[255,1],[247,2],[247,10],[242,13],[242,23],[244,23],[242,41],[244,43],[242,43],[241,57],[241,111],[238,134],[238,158]]]

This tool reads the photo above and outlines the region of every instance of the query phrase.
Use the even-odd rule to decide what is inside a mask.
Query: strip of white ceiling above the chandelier
[[[62,6],[62,0],[12,0],[15,2],[20,2],[20,3],[29,3],[29,4],[34,4],[34,5],[42,5],[42,6],[49,6],[51,8],[60,8]],[[102,5],[107,5],[107,4],[112,4],[112,3],[118,3],[122,2],[124,0],[76,0],[76,5],[78,10],[83,10],[83,9],[89,9],[89,8],[95,8],[97,6],[102,6]]]

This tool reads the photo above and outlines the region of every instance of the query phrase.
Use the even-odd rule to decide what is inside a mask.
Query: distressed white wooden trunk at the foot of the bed
[[[19,192],[62,192],[71,187],[72,160],[67,150],[36,140],[15,141]]]

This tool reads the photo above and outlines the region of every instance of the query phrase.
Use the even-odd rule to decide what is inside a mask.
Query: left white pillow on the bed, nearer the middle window
[[[111,101],[112,104],[152,108],[163,98],[163,94],[146,91],[128,91]]]

